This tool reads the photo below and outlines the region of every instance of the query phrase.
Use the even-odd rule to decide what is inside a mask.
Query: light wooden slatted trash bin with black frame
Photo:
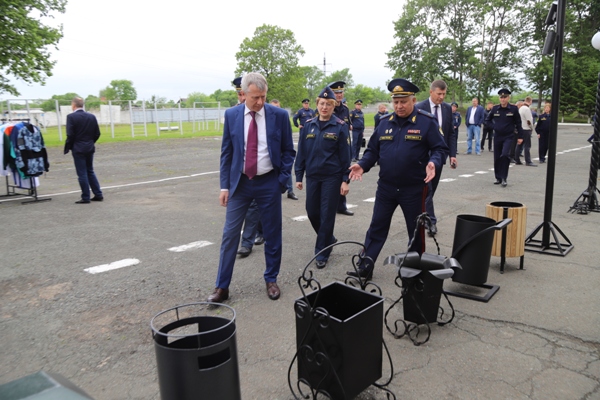
[[[527,226],[527,207],[511,201],[494,201],[486,205],[485,216],[495,221],[512,219],[512,224],[494,235],[492,255],[501,257],[500,273],[504,273],[506,257],[521,257],[519,269],[523,269],[525,258],[525,228]]]

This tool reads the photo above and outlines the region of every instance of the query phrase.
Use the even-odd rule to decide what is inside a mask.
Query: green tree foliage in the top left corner
[[[62,26],[40,22],[53,12],[65,12],[66,0],[0,0],[0,93],[18,96],[9,76],[29,84],[44,84],[56,61],[49,47],[62,38]]]

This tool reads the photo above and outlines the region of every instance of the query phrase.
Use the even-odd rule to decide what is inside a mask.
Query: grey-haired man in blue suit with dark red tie
[[[267,295],[277,300],[277,275],[281,266],[281,194],[286,191],[296,152],[287,111],[265,104],[267,81],[259,73],[242,79],[245,105],[225,111],[221,146],[221,193],[219,202],[227,208],[219,271],[214,292],[208,301],[229,298],[237,244],[246,211],[256,200],[265,238]]]

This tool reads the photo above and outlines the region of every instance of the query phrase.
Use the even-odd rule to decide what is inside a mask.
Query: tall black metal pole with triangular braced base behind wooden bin
[[[548,146],[548,167],[546,169],[546,198],[544,202],[544,222],[525,239],[525,250],[537,253],[565,256],[573,249],[573,245],[562,231],[552,222],[552,198],[554,196],[554,174],[556,171],[556,142],[558,133],[558,110],[560,108],[560,80],[562,76],[562,54],[565,37],[566,0],[558,0],[556,10],[556,45],[554,48],[554,73],[552,77],[552,113],[550,114],[550,140]],[[542,240],[535,240],[535,235],[542,229]],[[566,242],[562,244],[557,235]],[[554,241],[550,241],[552,234]]]

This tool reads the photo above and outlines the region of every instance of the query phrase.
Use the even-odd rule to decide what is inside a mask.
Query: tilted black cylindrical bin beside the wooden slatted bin
[[[475,236],[494,225],[496,225],[495,220],[479,215],[458,215],[456,217],[452,257],[458,260],[462,269],[454,271],[452,276],[454,282],[483,285],[487,281],[495,231],[489,229],[487,232]],[[461,247],[463,248],[460,249]]]

